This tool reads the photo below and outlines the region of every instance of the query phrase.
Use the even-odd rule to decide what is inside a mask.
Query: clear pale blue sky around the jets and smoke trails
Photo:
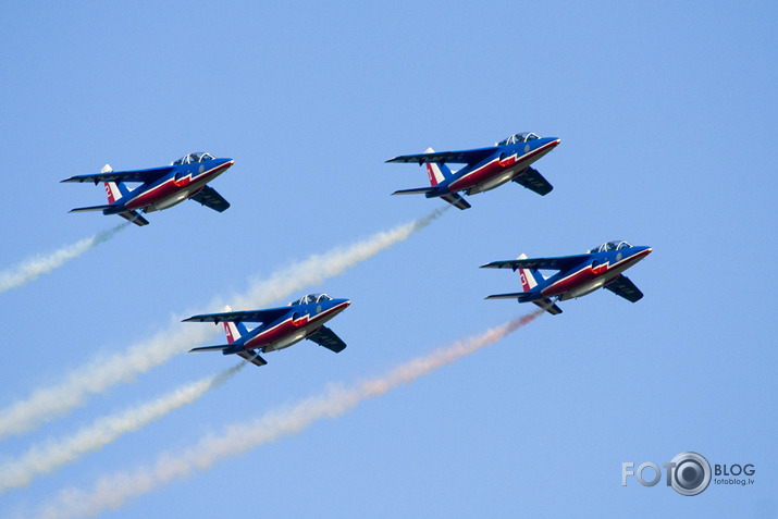
[[[339,355],[300,343],[79,462],[0,495],[35,516],[64,489],[152,466],[208,434],[477,335],[534,306],[493,260],[654,252],[645,297],[600,291],[507,338],[293,437],[131,499],[104,517],[776,517],[774,2],[39,2],[3,8],[2,264],[121,223],[71,175],[235,159],[187,201],[0,294],[0,409],[230,302],[292,261],[444,206],[391,157],[561,138],[510,184],[469,197],[406,242],[320,286],[348,297]],[[0,441],[0,461],[220,372],[182,354],[64,418]],[[621,486],[621,464],[694,450],[753,464],[753,486],[683,497]],[[645,475],[651,475],[650,471]]]

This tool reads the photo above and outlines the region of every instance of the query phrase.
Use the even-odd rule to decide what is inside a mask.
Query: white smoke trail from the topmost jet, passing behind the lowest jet
[[[446,208],[388,232],[375,233],[349,247],[336,247],[323,255],[311,256],[280,270],[267,281],[251,283],[247,294],[234,296],[231,302],[237,308],[261,308],[308,285],[322,283],[405,240],[432,223]],[[219,308],[213,305],[212,311]],[[131,346],[124,353],[77,368],[62,383],[39,388],[28,398],[0,409],[0,438],[33,431],[47,421],[64,416],[85,405],[89,395],[102,393],[119,383],[132,382],[138,374],[208,341],[213,333],[211,326],[174,322],[168,330]]]

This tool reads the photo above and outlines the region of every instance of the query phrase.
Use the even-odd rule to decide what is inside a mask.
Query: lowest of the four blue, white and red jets
[[[207,313],[184,319],[184,322],[224,323],[227,344],[193,348],[192,351],[221,351],[237,354],[256,366],[268,362],[259,356],[292,346],[307,338],[336,354],[344,350],[346,343],[324,323],[345,310],[351,301],[333,299],[326,294],[309,294],[289,302],[286,307],[234,312],[226,307],[223,313]],[[244,322],[258,322],[251,331]]]

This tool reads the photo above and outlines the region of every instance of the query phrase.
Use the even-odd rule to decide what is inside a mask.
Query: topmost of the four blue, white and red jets
[[[521,133],[489,148],[461,151],[434,151],[428,148],[423,153],[395,157],[386,162],[425,164],[431,187],[400,189],[392,195],[423,194],[427,198],[440,197],[459,209],[468,209],[470,203],[458,191],[476,195],[513,181],[544,196],[553,187],[530,164],[556,148],[559,141],[556,137],[541,138],[533,133]],[[465,165],[452,172],[446,163]]]

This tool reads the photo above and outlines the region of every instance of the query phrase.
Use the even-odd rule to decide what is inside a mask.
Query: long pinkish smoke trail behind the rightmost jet
[[[358,383],[350,388],[329,387],[323,395],[302,400],[292,408],[270,411],[255,421],[231,425],[221,436],[207,436],[177,456],[162,454],[153,467],[141,467],[133,472],[106,475],[89,492],[76,489],[64,490],[60,492],[55,503],[42,510],[40,517],[46,519],[88,517],[107,508],[115,509],[125,506],[131,498],[159,490],[174,480],[208,470],[224,458],[297,434],[317,420],[337,418],[363,400],[381,396],[400,384],[410,384],[437,368],[505,337],[543,312],[544,310],[536,310],[482,335],[460,341],[447,348],[441,348],[431,355],[400,364],[383,376]]]

